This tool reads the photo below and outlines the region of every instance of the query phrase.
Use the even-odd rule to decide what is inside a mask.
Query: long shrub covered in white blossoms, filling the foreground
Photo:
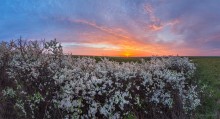
[[[185,57],[96,62],[64,55],[56,40],[1,43],[0,52],[1,95],[17,118],[186,118],[200,105]]]

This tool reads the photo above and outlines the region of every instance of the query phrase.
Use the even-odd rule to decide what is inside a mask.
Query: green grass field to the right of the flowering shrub
[[[197,110],[198,119],[214,119],[220,111],[220,57],[191,57],[196,64],[196,79],[208,87]],[[212,92],[212,97],[209,97]]]

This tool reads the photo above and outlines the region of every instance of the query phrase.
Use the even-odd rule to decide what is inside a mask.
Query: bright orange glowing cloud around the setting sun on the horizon
[[[87,39],[77,47],[65,48],[65,52],[72,52],[81,55],[98,55],[98,56],[152,56],[152,55],[173,55],[169,47],[156,44],[144,43],[133,37],[120,38],[114,35],[87,34],[83,35]],[[96,40],[95,40],[96,39]],[[87,43],[87,45],[85,45]]]

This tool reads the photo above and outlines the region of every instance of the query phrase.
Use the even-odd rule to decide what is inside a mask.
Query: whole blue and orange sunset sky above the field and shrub
[[[0,41],[20,37],[73,55],[220,56],[220,1],[0,0]]]

